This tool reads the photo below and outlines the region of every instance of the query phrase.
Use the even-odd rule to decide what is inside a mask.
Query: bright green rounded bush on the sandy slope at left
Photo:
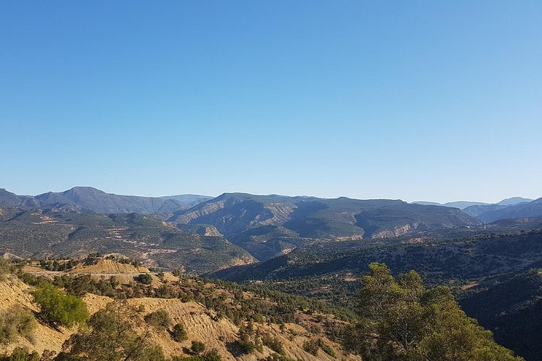
[[[74,295],[66,295],[58,288],[44,284],[32,292],[40,305],[40,317],[45,322],[71,327],[88,319],[87,305]]]

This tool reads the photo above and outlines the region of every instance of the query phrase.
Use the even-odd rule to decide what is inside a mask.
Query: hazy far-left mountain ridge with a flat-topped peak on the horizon
[[[0,205],[24,207],[55,207],[76,213],[139,213],[171,216],[210,197],[175,195],[171,197],[138,197],[114,195],[92,187],[74,187],[64,192],[47,192],[35,197],[19,196],[0,190]]]

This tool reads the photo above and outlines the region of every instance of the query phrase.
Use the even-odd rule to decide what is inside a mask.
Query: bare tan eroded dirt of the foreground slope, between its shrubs
[[[100,268],[103,271],[104,268]],[[0,281],[0,311],[8,310],[13,305],[23,305],[28,309],[37,312],[38,309],[32,304],[32,296],[30,295],[32,288],[25,283],[19,281],[13,276]],[[109,302],[127,302],[128,305],[138,307],[140,316],[157,311],[159,309],[167,310],[174,324],[181,323],[185,326],[188,333],[188,339],[181,343],[175,342],[167,332],[155,331],[150,334],[152,343],[161,345],[164,353],[168,357],[172,355],[183,355],[191,346],[192,341],[200,341],[205,343],[207,350],[216,348],[222,356],[222,360],[258,360],[267,355],[274,353],[269,348],[263,348],[262,353],[255,352],[251,355],[237,355],[233,343],[239,340],[239,327],[233,324],[229,319],[222,318],[216,320],[215,312],[207,310],[203,305],[196,302],[181,302],[179,299],[160,299],[160,298],[133,298],[126,301],[113,300],[98,295],[88,294],[83,298],[88,306],[90,314],[104,308]],[[287,357],[293,360],[360,360],[359,357],[353,355],[344,355],[342,348],[325,337],[323,340],[327,345],[330,345],[337,356],[334,358],[318,351],[317,357],[306,353],[303,350],[303,343],[307,341],[311,335],[306,329],[297,324],[286,324],[284,331],[280,331],[277,324],[255,323],[255,330],[260,330],[263,334],[268,334],[272,337],[279,338],[284,345],[284,350]],[[66,339],[75,332],[76,329],[59,329],[55,330],[48,326],[38,324],[37,329],[32,337],[32,342],[19,338],[16,343],[11,343],[8,346],[0,345],[0,353],[7,351],[11,352],[17,346],[23,346],[30,350],[37,350],[42,353],[44,350],[61,350],[61,346]],[[185,354],[186,355],[186,354]]]

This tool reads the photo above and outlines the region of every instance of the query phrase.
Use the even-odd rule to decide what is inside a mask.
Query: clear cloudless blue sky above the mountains
[[[1,1],[0,188],[542,196],[542,1]]]

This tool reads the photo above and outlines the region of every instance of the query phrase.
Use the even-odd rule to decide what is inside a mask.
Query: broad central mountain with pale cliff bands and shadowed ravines
[[[400,200],[319,199],[224,193],[169,219],[180,227],[214,226],[232,243],[260,260],[313,240],[389,238],[479,222],[459,209]]]

